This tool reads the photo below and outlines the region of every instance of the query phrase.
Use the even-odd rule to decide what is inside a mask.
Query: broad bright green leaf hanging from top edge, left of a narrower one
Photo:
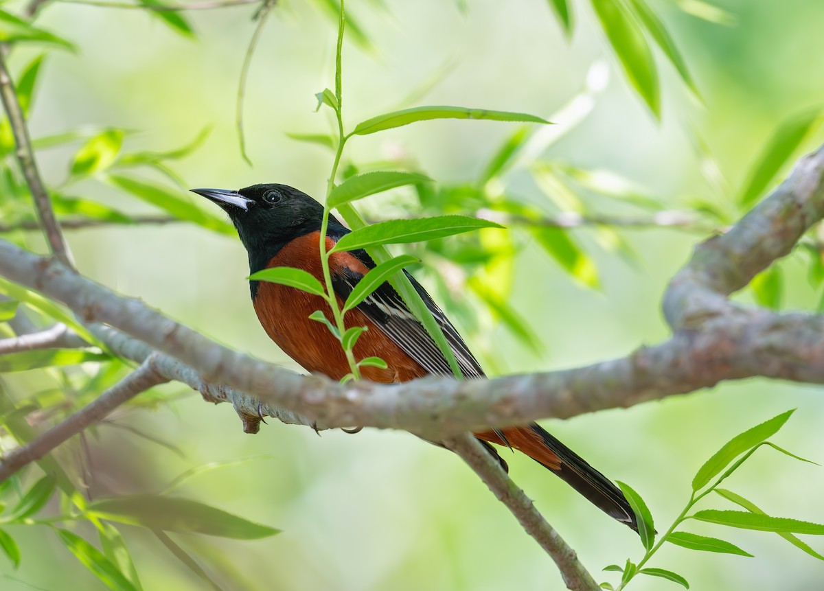
[[[632,86],[653,112],[661,117],[661,89],[653,52],[644,31],[627,11],[621,0],[592,0],[607,39],[615,50]]]

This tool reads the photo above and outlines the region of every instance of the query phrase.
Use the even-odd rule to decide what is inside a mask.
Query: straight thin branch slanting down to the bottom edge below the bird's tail
[[[570,548],[558,532],[546,522],[536,510],[532,500],[522,491],[491,454],[472,435],[466,433],[452,440],[444,441],[448,449],[461,456],[483,480],[494,496],[500,500],[521,524],[524,531],[534,537],[544,551],[550,555],[567,589],[574,591],[598,591],[598,584],[583,567],[575,551]]]

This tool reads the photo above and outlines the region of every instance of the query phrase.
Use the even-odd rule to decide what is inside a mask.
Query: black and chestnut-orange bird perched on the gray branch
[[[311,273],[321,283],[320,232],[323,207],[306,193],[284,184],[255,184],[238,191],[195,188],[194,193],[217,203],[227,212],[249,254],[250,272],[272,267],[293,267]],[[329,218],[326,249],[349,233],[334,216]],[[330,255],[330,273],[340,305],[353,287],[375,267],[363,250]],[[408,273],[412,285],[447,337],[466,378],[483,378],[484,371],[461,336],[432,297]],[[349,374],[349,364],[339,341],[324,324],[309,319],[331,309],[321,297],[271,282],[250,282],[252,304],[269,337],[288,356],[312,373],[331,379]],[[424,327],[414,318],[400,295],[384,283],[356,308],[347,312],[346,327],[366,326],[354,347],[356,359],[381,357],[388,367],[364,367],[363,377],[374,382],[405,382],[424,375],[452,376],[449,364]],[[506,445],[527,454],[568,482],[606,514],[638,530],[634,513],[620,489],[587,462],[547,433],[537,423],[476,433],[489,452],[502,463],[489,443]]]

